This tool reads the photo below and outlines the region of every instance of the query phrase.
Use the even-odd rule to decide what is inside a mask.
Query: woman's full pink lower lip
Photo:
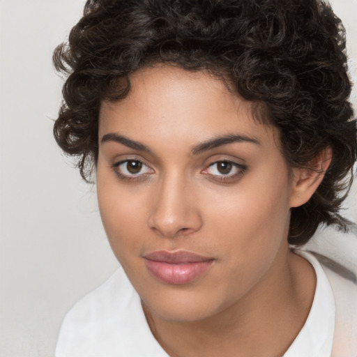
[[[170,264],[163,261],[145,259],[149,272],[160,282],[166,284],[186,284],[206,273],[213,260],[193,261],[189,263]]]

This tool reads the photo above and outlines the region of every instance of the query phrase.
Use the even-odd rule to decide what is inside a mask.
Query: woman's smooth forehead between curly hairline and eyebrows
[[[159,65],[142,68],[129,79],[126,98],[102,102],[99,137],[116,132],[169,144],[174,136],[194,144],[233,133],[268,144],[277,142],[278,130],[255,120],[252,102],[205,71]]]

